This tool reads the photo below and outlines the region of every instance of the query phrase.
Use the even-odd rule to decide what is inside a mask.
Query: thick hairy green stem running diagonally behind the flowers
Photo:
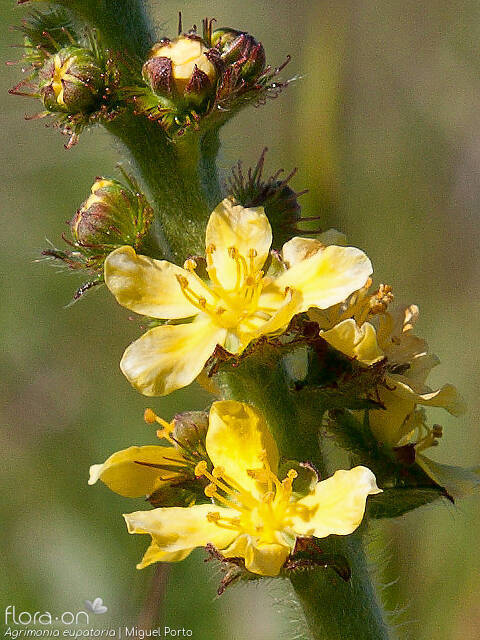
[[[152,28],[141,0],[62,0],[96,27],[112,49],[143,56]],[[208,215],[220,200],[216,169],[218,131],[187,133],[172,143],[159,125],[126,111],[107,125],[132,159],[157,214],[158,241],[176,261],[203,253]],[[257,354],[258,355],[258,354]],[[328,468],[318,442],[324,407],[307,407],[295,398],[275,358],[246,359],[217,374],[225,398],[257,406],[266,416],[287,459],[309,461],[325,477]],[[372,587],[362,535],[330,536],[322,550],[346,559],[352,578],[344,582],[332,569],[294,573],[293,589],[314,640],[386,640],[387,627]]]

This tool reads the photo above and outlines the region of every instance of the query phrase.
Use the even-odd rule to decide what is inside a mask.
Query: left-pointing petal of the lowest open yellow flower
[[[149,533],[160,551],[173,553],[204,547],[207,543],[225,549],[237,536],[237,531],[211,522],[209,513],[235,517],[236,511],[213,504],[193,507],[164,507],[151,511],[124,514],[129,533]]]

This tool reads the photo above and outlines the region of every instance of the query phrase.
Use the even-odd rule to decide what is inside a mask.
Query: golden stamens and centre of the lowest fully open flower
[[[280,481],[272,472],[264,455],[261,469],[249,469],[248,475],[265,486],[266,490],[257,496],[252,495],[229,477],[225,469],[215,467],[210,473],[205,461],[199,462],[195,475],[210,480],[205,488],[205,495],[215,502],[236,511],[238,515],[225,517],[218,511],[207,515],[210,522],[226,529],[233,529],[238,534],[247,533],[262,542],[277,542],[277,534],[288,526],[292,484],[297,472],[290,469],[284,480]]]

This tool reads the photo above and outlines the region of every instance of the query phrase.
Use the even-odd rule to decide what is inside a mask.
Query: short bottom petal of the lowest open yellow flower
[[[278,543],[262,543],[248,534],[239,536],[225,549],[226,558],[243,558],[245,567],[261,576],[278,576],[290,554],[290,547]]]

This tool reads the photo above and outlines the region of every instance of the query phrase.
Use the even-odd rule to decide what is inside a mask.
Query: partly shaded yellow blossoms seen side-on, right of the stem
[[[397,313],[380,309],[380,313],[374,313],[370,318],[374,326],[365,320],[369,317],[365,309],[367,306],[371,309],[371,303],[368,299],[359,302],[360,305],[352,305],[355,318],[342,320],[333,328],[320,331],[320,335],[332,347],[366,366],[387,358],[385,384],[379,385],[375,393],[375,399],[385,409],[369,412],[373,435],[391,447],[413,445],[417,464],[449,496],[458,499],[470,495],[480,486],[478,470],[441,464],[423,454],[425,449],[438,444],[442,429],[439,425],[430,428],[426,424],[425,410],[417,407],[442,407],[459,416],[465,406],[453,385],[445,384],[432,390],[426,384],[430,371],[439,360],[429,353],[426,341],[413,333],[418,307],[410,305]],[[359,317],[364,321],[359,322]]]

